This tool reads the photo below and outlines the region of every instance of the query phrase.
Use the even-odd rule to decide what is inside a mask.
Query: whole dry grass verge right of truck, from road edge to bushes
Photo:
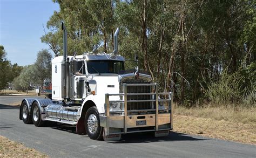
[[[176,107],[174,112],[175,132],[256,145],[255,108]]]

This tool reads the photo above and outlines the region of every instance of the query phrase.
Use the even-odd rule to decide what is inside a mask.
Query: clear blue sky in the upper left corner
[[[41,42],[43,25],[53,11],[59,11],[52,0],[0,0],[0,45],[4,46],[11,64],[35,63],[38,51],[49,46]]]

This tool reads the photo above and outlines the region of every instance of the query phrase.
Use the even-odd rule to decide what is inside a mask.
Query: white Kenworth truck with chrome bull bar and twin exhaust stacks
[[[49,121],[76,125],[90,139],[120,140],[122,134],[172,130],[172,93],[158,92],[150,75],[125,73],[114,32],[111,54],[93,50],[67,56],[67,32],[62,23],[63,56],[52,59],[52,94],[46,99],[23,99],[19,119],[35,126]]]

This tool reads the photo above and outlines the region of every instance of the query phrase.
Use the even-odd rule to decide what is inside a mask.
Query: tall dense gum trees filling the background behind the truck
[[[53,2],[60,11],[50,17],[50,32],[41,40],[56,56],[62,54],[61,22],[69,55],[95,48],[111,53],[119,27],[119,53],[139,56],[140,70],[149,71],[161,91],[173,91],[180,104],[228,104],[255,96],[254,0]]]

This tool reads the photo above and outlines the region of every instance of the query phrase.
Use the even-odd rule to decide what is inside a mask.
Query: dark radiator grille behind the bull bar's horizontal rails
[[[145,80],[126,80],[125,84],[150,84]],[[127,86],[127,93],[150,93],[151,86]],[[150,100],[151,95],[127,95],[127,100]],[[127,102],[127,111],[151,109],[151,102]]]

